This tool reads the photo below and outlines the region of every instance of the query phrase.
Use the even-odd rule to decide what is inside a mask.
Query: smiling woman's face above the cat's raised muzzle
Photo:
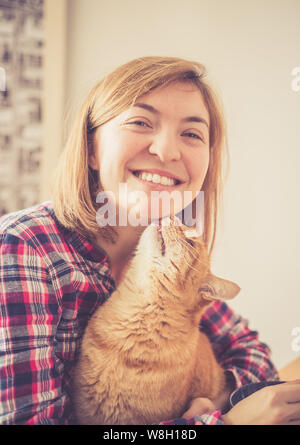
[[[173,196],[171,207],[160,204],[156,216],[186,207],[201,190],[208,169],[209,124],[199,89],[177,82],[140,97],[97,128],[90,165],[99,170],[104,191],[114,195],[117,214],[122,207],[149,222],[154,208],[157,212],[153,192],[162,191]],[[120,184],[126,195],[120,195]]]

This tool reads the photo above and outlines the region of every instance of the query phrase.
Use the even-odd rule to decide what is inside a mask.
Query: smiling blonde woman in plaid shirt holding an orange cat
[[[202,65],[177,58],[145,57],[117,68],[79,112],[53,200],[1,218],[0,423],[74,422],[69,385],[84,328],[122,280],[145,228],[118,222],[99,227],[99,192],[113,194],[118,215],[125,209],[145,216],[145,206],[119,196],[119,184],[148,197],[159,187],[191,191],[185,205],[194,207],[197,192],[204,191],[203,236],[212,250],[226,134],[205,77]],[[149,172],[156,176],[142,175]],[[172,213],[180,211],[177,200]],[[264,388],[228,410],[235,388],[278,376],[268,347],[226,304],[211,305],[201,329],[226,370],[226,390],[219,400],[194,400],[183,418],[162,423],[253,423],[257,414],[262,423],[300,418],[299,404],[292,417],[272,416],[286,412],[291,384]],[[293,394],[295,389],[300,393],[299,383]],[[257,406],[259,397],[264,404]]]

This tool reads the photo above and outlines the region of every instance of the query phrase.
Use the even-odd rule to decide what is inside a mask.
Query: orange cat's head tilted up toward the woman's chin
[[[164,218],[160,225],[149,225],[141,236],[137,253],[141,273],[153,274],[160,284],[174,294],[182,291],[204,300],[234,298],[240,288],[232,281],[210,272],[207,248],[196,230],[178,218]]]

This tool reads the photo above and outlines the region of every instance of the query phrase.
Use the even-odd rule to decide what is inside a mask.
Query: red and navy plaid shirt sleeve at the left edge
[[[54,349],[59,304],[42,257],[0,238],[0,424],[65,424],[68,397]]]

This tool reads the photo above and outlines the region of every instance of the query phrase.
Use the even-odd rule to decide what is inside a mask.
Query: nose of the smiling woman
[[[170,134],[159,134],[151,142],[149,153],[159,157],[162,162],[179,161],[180,147],[176,138]]]

